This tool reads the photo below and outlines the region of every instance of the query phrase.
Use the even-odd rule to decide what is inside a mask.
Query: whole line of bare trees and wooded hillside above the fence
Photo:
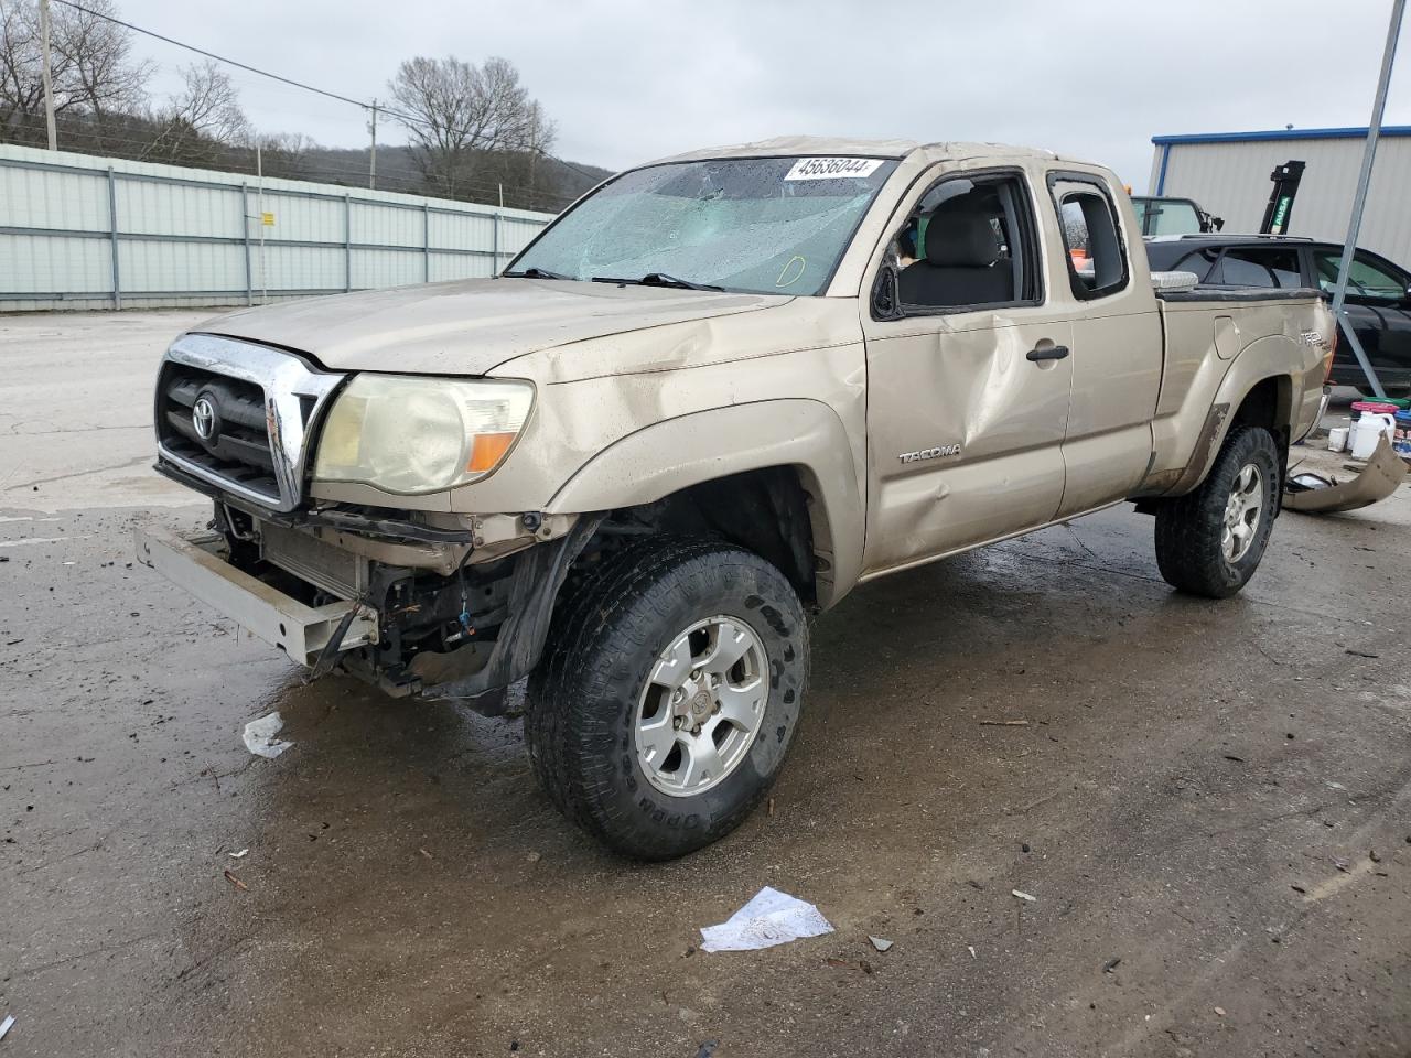
[[[154,99],[157,65],[138,58],[131,31],[109,20],[117,17],[113,0],[85,7],[51,7],[59,150],[241,174],[258,164],[268,176],[367,186],[368,148],[327,148],[302,133],[254,128],[230,76],[210,59],[179,66],[181,87]],[[391,126],[406,137],[405,145],[377,150],[384,190],[502,197],[505,206],[557,212],[607,175],[552,158],[555,123],[507,59],[406,59],[378,117],[380,133]],[[48,142],[34,0],[0,0],[0,142]]]

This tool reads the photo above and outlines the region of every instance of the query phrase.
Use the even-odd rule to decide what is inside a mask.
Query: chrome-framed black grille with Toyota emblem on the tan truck
[[[157,381],[159,456],[234,495],[293,511],[303,502],[309,439],[341,381],[291,353],[183,334]]]

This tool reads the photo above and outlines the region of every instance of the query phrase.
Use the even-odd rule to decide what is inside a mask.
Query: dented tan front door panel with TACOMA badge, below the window
[[[1051,308],[866,324],[864,567],[878,573],[1043,525],[1062,498],[1071,327]]]

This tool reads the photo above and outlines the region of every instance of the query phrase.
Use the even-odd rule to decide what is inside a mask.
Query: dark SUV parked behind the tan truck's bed
[[[1342,247],[1309,238],[1204,234],[1147,240],[1147,258],[1153,271],[1195,272],[1202,286],[1316,286],[1331,296]],[[1411,272],[1359,250],[1348,281],[1348,317],[1387,394],[1411,394]],[[1332,381],[1369,389],[1346,340],[1338,343]]]

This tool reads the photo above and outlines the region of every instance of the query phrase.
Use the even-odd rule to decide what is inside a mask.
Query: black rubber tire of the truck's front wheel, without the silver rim
[[[698,794],[655,789],[635,743],[659,653],[707,616],[746,622],[768,656],[768,698],[748,753]],[[783,766],[809,674],[809,626],[789,580],[759,556],[703,539],[643,540],[560,598],[529,681],[525,742],[553,804],[618,853],[673,859],[717,841]]]

